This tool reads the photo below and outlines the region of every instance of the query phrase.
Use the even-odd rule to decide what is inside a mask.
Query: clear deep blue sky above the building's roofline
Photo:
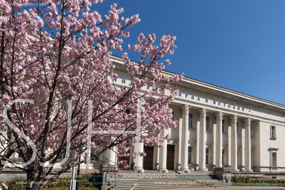
[[[177,36],[166,70],[285,104],[285,1],[105,0],[92,9],[103,16],[113,2],[124,17],[140,15],[124,45],[141,32],[155,33],[157,45],[166,32]]]

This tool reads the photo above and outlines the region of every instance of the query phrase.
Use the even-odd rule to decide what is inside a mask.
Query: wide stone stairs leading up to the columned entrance
[[[154,170],[140,173],[133,170],[120,170],[116,172],[115,186],[109,190],[129,190],[134,183],[138,184],[135,190],[228,186],[214,176],[211,171],[191,171],[191,173],[168,171],[168,173],[163,173]]]

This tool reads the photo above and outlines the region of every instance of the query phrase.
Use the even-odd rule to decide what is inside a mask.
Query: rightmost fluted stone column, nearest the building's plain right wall
[[[245,133],[245,169],[246,171],[252,172],[251,170],[251,118],[243,119],[246,133]]]

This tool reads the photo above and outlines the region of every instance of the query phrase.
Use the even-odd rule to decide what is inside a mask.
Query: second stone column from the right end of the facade
[[[231,115],[232,136],[231,136],[231,167],[237,171],[237,115]]]

